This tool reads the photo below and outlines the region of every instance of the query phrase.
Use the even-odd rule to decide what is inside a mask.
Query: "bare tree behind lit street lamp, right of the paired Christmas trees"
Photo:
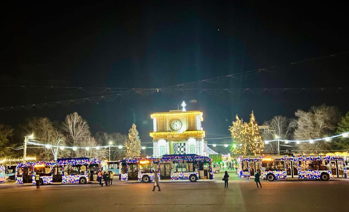
[[[270,121],[264,122],[263,125],[269,126],[274,130],[273,134],[263,133],[263,137],[267,138],[268,140],[273,140],[273,139],[287,140],[292,137],[292,133],[296,127],[296,121],[295,119],[288,119],[285,116],[279,115],[279,116],[274,116]],[[280,154],[281,145],[285,146],[283,144],[280,144],[280,141],[276,141],[276,142],[270,142],[269,144],[266,145],[266,147],[269,149],[270,152]]]

